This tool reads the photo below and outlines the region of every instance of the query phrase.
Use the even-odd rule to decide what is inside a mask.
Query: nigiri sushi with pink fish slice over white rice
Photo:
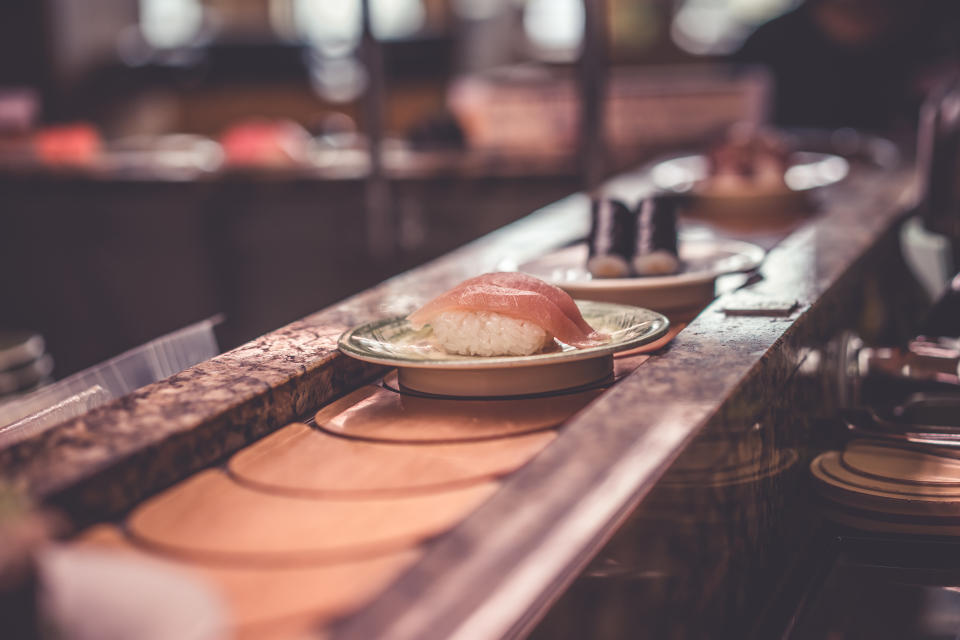
[[[522,273],[487,273],[434,298],[407,320],[430,325],[449,353],[523,356],[543,351],[553,339],[575,347],[599,344],[604,336],[583,319],[564,291]]]

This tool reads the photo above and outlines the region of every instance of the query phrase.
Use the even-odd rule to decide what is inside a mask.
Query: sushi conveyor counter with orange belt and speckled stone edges
[[[195,637],[779,637],[826,553],[808,468],[837,438],[831,345],[918,312],[912,182],[855,164],[815,214],[749,238],[757,270],[586,389],[437,398],[337,349],[586,237],[579,194],[0,450],[0,477],[68,521],[61,570],[109,553],[202,585]],[[168,600],[143,615],[179,633]]]

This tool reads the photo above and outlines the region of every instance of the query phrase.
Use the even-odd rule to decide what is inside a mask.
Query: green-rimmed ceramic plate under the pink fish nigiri
[[[340,336],[342,352],[397,367],[401,386],[453,396],[516,396],[592,384],[613,374],[613,354],[652,342],[670,326],[655,311],[606,302],[577,301],[584,319],[609,336],[604,343],[576,348],[560,342],[530,356],[461,356],[431,341],[428,326],[416,331],[404,317],[371,322]]]

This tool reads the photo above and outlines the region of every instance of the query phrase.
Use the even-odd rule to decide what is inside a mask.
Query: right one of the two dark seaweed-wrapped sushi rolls
[[[637,207],[633,272],[638,276],[676,273],[677,200],[670,196],[644,198]]]

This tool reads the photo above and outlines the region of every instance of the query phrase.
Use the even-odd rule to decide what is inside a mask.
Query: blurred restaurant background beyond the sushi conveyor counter
[[[0,328],[52,355],[7,391],[216,314],[234,347],[736,122],[909,140],[958,25],[949,0],[5,1]]]

